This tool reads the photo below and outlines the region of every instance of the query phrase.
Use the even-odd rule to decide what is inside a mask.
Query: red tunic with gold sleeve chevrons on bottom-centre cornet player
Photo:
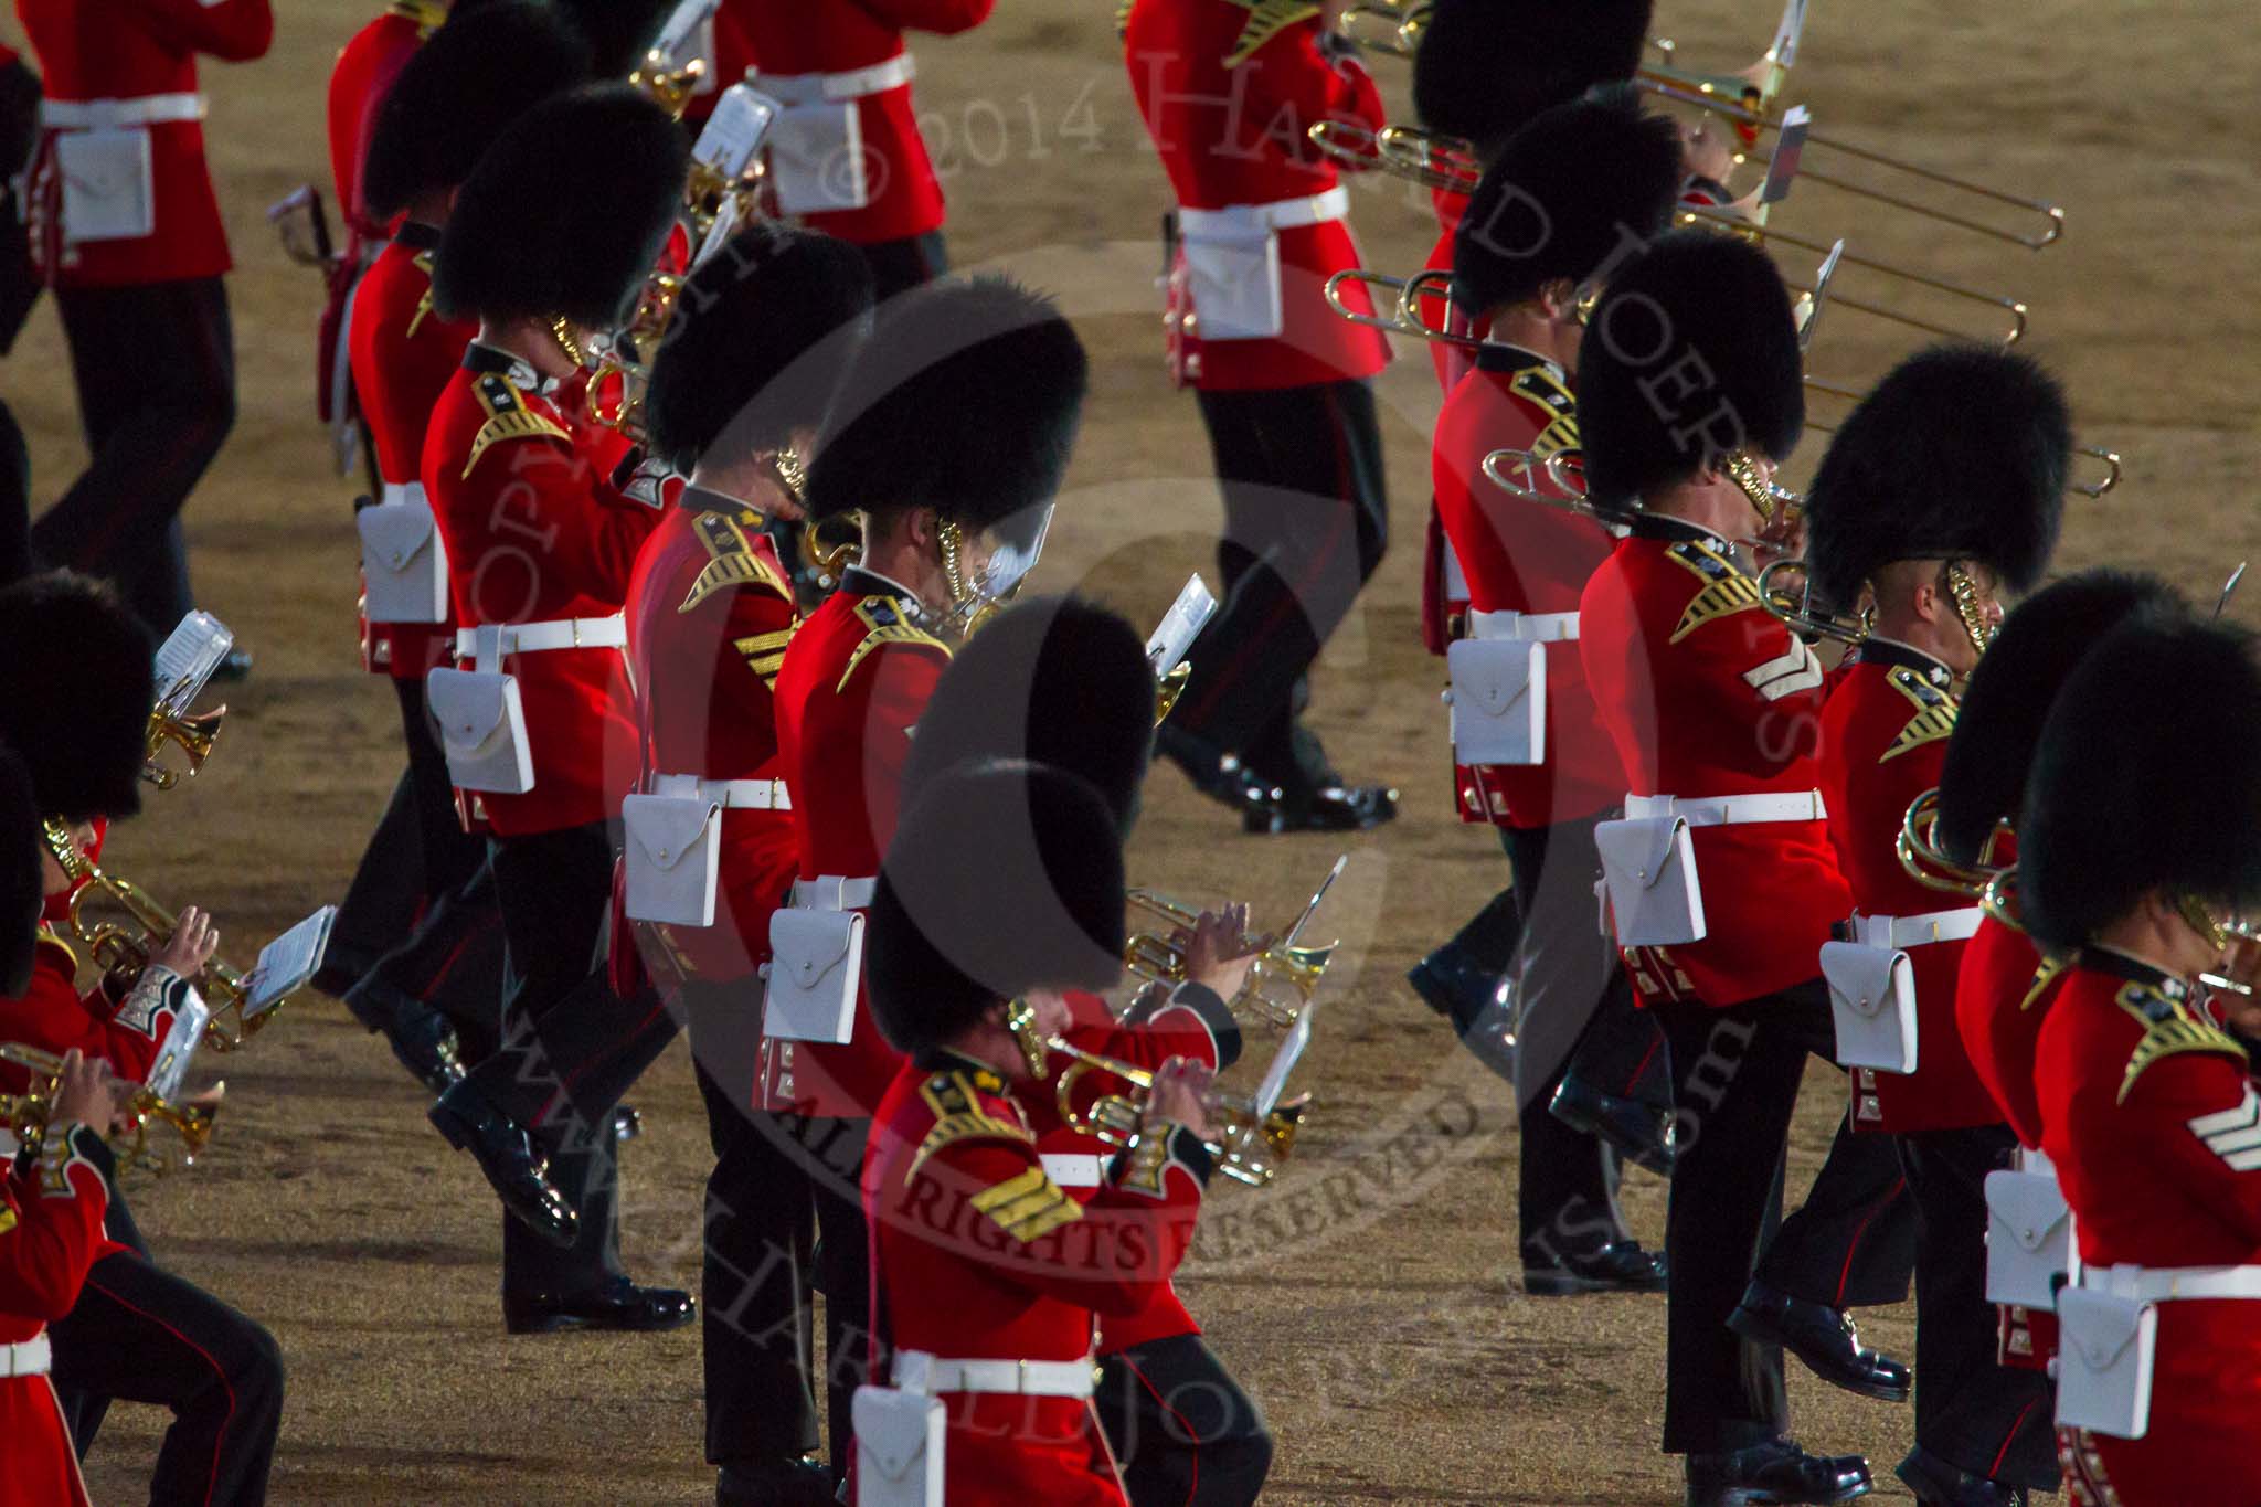
[[[864,1157],[873,1281],[898,1353],[1090,1358],[1094,1317],[1153,1301],[1192,1243],[1207,1152],[1189,1141],[1180,1130],[1119,1157],[1090,1202],[1076,1202],[1045,1175],[997,1073],[963,1057],[904,1066]],[[947,1500],[1124,1505],[1088,1401],[943,1396]]]

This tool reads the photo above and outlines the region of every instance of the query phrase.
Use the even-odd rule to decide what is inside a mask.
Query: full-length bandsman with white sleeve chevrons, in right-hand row
[[[1782,1340],[1727,1326],[1807,1057],[1834,1046],[1816,956],[1852,911],[1813,759],[1822,669],[1759,608],[1736,542],[1784,531],[1770,477],[1802,427],[1797,328],[1761,251],[1669,233],[1612,280],[1578,434],[1592,504],[1630,535],[1578,601],[1578,653],[1630,791],[1596,829],[1610,917],[1680,1080],[1664,1448],[1687,1455],[1691,1507],[1870,1489],[1859,1455],[1784,1435]]]

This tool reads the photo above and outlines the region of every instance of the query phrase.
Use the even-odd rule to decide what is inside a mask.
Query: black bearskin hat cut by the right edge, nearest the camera
[[[2076,947],[2146,892],[2261,901],[2261,642],[2137,617],[2048,709],[2017,822],[2017,899],[2044,947]]]

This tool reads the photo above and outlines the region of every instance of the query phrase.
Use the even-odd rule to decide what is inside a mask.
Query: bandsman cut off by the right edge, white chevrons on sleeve
[[[2058,1446],[2078,1507],[2261,1498],[2261,1096],[2214,1001],[2261,906],[2261,664],[2243,630],[2132,619],[2048,712],[2019,901],[2069,965],[2042,1021],[2042,1146],[2073,1209]]]

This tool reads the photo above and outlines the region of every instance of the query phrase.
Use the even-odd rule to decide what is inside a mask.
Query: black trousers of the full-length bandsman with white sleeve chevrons
[[[1788,1423],[1782,1349],[1743,1340],[1727,1315],[1782,1220],[1797,1084],[1809,1055],[1836,1051],[1836,1026],[1820,978],[1732,1010],[1678,1003],[1653,1014],[1680,1084],[1680,1159],[1664,1216],[1664,1451],[1732,1451]]]

